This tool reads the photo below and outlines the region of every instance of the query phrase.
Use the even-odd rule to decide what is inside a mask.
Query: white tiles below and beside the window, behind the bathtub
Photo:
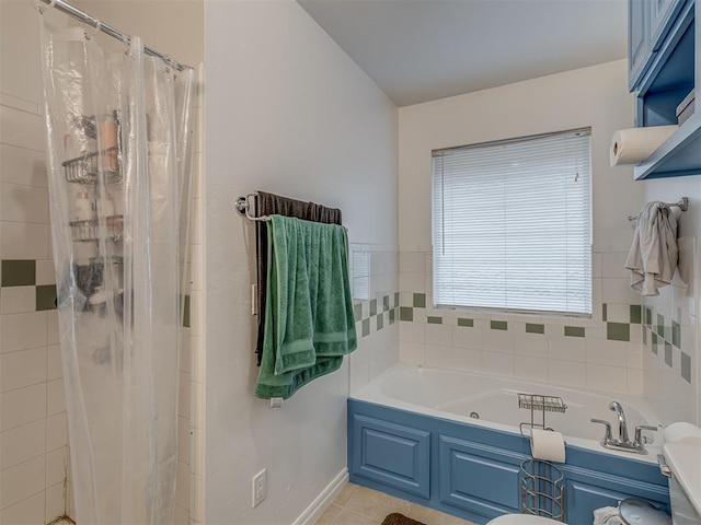
[[[630,324],[629,341],[608,340],[602,319],[602,303],[608,320],[620,323],[629,323],[630,305],[641,303],[624,258],[622,252],[593,253],[594,315],[585,319],[433,310],[430,253],[402,252],[400,304],[411,306],[413,293],[421,292],[426,308],[414,308],[413,320],[400,323],[401,360],[641,395],[641,325]],[[428,324],[428,316],[443,317],[443,324]],[[458,326],[459,317],[474,326]],[[492,329],[492,320],[507,322],[508,329]],[[543,325],[544,334],[527,332],[527,324]],[[565,326],[583,327],[585,337],[566,336]]]

